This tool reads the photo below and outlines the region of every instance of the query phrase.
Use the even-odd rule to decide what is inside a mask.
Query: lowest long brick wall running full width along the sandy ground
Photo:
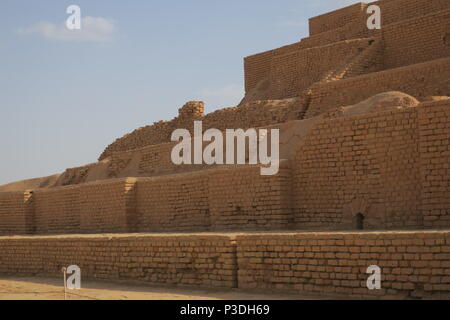
[[[0,274],[275,289],[353,298],[449,298],[450,231],[0,237]],[[367,289],[371,265],[381,290]]]

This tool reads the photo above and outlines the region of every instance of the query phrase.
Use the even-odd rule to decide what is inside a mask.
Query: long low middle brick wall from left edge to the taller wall
[[[274,176],[216,166],[37,190],[29,203],[14,195],[0,194],[2,234],[273,230],[288,228],[291,212],[286,165]]]

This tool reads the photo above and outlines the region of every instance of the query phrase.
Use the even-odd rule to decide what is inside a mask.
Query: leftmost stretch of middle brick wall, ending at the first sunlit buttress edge
[[[138,222],[134,185],[134,179],[111,179],[76,186],[38,189],[31,196],[27,192],[17,193],[17,203],[20,202],[19,195],[21,195],[21,206],[0,207],[8,208],[8,214],[6,212],[4,214],[4,221],[14,221],[17,225],[5,223],[2,233],[134,231]],[[0,199],[5,195],[0,193]],[[25,216],[24,227],[22,220],[19,221],[17,218],[22,216]],[[25,231],[15,228],[20,230],[25,228]]]

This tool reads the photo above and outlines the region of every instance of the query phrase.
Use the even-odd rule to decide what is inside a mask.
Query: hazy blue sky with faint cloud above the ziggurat
[[[243,57],[356,1],[1,0],[0,184],[95,162],[116,138],[243,97]],[[82,30],[64,28],[69,5]]]

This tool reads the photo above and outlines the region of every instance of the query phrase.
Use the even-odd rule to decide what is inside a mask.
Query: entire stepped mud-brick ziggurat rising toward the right
[[[117,139],[97,163],[0,191],[0,274],[450,297],[450,1],[357,3],[244,59],[246,95]],[[280,129],[280,171],[176,166],[170,135]],[[382,268],[368,290],[366,269]]]

